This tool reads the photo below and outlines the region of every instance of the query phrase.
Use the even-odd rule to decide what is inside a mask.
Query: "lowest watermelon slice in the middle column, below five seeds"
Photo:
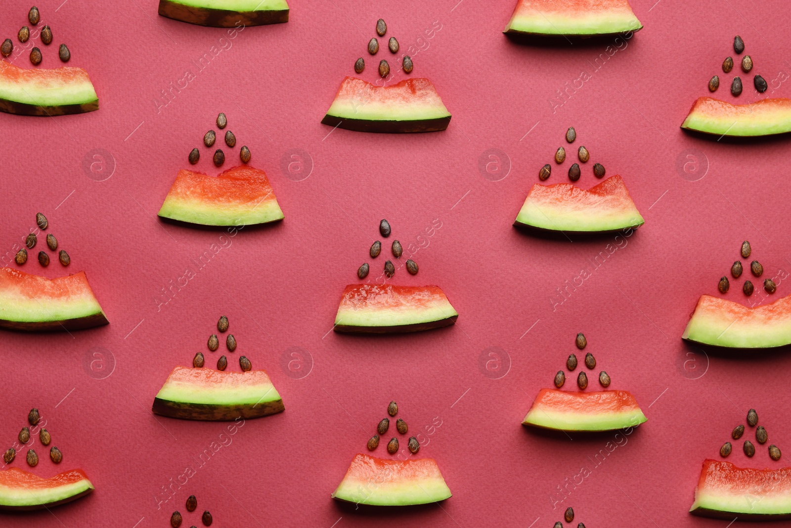
[[[436,503],[451,496],[433,458],[386,460],[357,454],[335,500],[372,506],[409,506]]]

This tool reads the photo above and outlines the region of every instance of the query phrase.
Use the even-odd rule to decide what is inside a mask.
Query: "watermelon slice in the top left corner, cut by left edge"
[[[25,70],[0,60],[0,110],[23,116],[63,116],[99,109],[99,98],[82,68]]]

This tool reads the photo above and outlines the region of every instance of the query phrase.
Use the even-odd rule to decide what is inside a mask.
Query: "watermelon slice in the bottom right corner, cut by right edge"
[[[707,458],[690,511],[740,521],[791,519],[791,468],[740,468]]]

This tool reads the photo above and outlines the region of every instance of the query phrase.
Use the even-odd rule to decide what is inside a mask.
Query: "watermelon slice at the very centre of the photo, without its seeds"
[[[350,284],[343,291],[335,332],[418,332],[459,317],[437,286]]]

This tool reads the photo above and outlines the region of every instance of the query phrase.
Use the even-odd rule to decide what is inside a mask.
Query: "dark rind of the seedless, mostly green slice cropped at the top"
[[[289,9],[261,9],[259,11],[232,11],[206,7],[184,6],[170,0],[159,0],[159,14],[187,24],[205,25],[210,28],[238,28],[250,25],[282,24],[289,21]]]

